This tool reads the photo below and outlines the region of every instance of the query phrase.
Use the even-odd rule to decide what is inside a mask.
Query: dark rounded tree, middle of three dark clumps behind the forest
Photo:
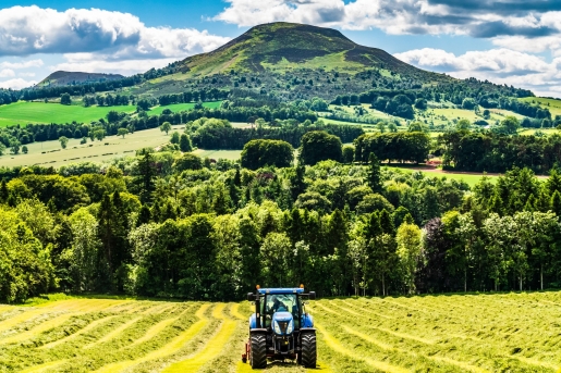
[[[302,136],[300,157],[305,164],[314,165],[320,161],[343,160],[341,139],[324,130],[313,130]]]

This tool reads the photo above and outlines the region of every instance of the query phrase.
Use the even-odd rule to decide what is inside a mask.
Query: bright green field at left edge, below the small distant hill
[[[0,127],[28,123],[90,123],[101,117],[106,117],[107,113],[115,110],[119,112],[132,113],[136,107],[90,107],[82,105],[63,105],[60,103],[45,102],[16,102],[0,105]]]

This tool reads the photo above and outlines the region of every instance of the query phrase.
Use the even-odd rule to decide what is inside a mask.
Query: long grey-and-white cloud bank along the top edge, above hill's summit
[[[312,23],[343,29],[380,28],[388,34],[468,35],[499,46],[538,39],[517,50],[544,51],[561,40],[558,0],[225,0],[212,20],[240,26],[265,22]],[[554,40],[554,41],[553,41]]]

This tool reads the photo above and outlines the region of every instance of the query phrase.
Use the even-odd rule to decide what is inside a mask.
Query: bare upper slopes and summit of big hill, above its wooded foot
[[[413,67],[381,49],[359,46],[336,29],[291,23],[253,27],[210,53],[183,60],[180,69],[205,76],[231,70],[264,72],[296,67],[350,73],[375,67],[428,79],[439,75]]]

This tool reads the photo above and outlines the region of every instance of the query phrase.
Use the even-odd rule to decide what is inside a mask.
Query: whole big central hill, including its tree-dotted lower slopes
[[[293,97],[334,98],[373,87],[418,89],[459,82],[412,66],[381,49],[357,45],[339,30],[292,23],[255,26],[215,51],[169,67],[166,75],[148,79],[134,92],[230,87],[259,88],[284,98],[291,91]]]

